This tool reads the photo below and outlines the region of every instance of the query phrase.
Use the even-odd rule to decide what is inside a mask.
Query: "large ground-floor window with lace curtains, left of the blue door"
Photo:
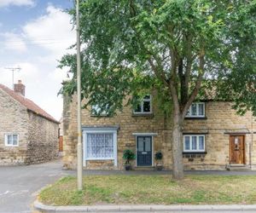
[[[113,159],[117,166],[117,130],[83,130],[84,166],[86,160]]]

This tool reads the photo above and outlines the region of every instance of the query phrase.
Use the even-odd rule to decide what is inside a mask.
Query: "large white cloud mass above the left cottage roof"
[[[19,34],[0,33],[0,43],[4,47],[0,49],[0,83],[11,88],[11,71],[4,67],[20,66],[20,72],[15,72],[15,82],[22,80],[26,84],[26,97],[55,118],[61,118],[62,100],[61,96],[57,97],[57,93],[61,89],[62,80],[67,78],[67,70],[56,68],[57,60],[67,52],[74,52],[67,48],[76,41],[70,20],[69,14],[48,5],[45,14],[28,20],[20,28]],[[14,41],[19,45],[10,45]],[[16,51],[11,49],[14,47]],[[10,57],[14,52],[17,54]]]

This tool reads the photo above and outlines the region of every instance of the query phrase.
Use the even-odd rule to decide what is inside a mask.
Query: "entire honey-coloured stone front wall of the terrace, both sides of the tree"
[[[74,169],[76,167],[77,144],[77,104],[76,97],[73,101],[64,98],[64,166]],[[205,170],[224,169],[229,164],[229,138],[232,133],[242,133],[246,138],[246,164],[256,164],[256,137],[250,135],[255,131],[255,118],[250,112],[245,116],[238,116],[232,110],[230,102],[208,101],[206,103],[206,119],[186,119],[184,133],[206,134],[206,154],[184,154],[185,169]],[[252,125],[253,124],[253,125]],[[163,153],[165,169],[172,169],[172,125],[171,118],[164,116],[153,103],[153,114],[136,116],[131,107],[125,107],[123,112],[118,112],[114,117],[91,116],[90,111],[82,111],[82,125],[104,126],[118,125],[118,167],[113,168],[113,162],[87,161],[87,169],[118,169],[122,170],[124,163],[123,151],[130,148],[135,151],[136,138],[133,133],[156,133],[154,136],[154,153]],[[248,134],[250,133],[250,134]],[[253,142],[252,142],[253,136]],[[249,160],[249,147],[252,146],[252,158]],[[254,148],[255,147],[255,148]],[[154,160],[154,159],[153,159]],[[133,162],[135,166],[135,162]]]

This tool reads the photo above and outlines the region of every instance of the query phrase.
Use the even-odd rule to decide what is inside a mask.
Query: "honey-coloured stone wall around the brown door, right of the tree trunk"
[[[185,133],[206,133],[205,155],[183,155],[186,169],[225,169],[230,161],[230,135],[245,135],[246,164],[256,164],[256,122],[251,112],[239,116],[231,102],[209,101],[206,103],[207,119],[186,119]]]

